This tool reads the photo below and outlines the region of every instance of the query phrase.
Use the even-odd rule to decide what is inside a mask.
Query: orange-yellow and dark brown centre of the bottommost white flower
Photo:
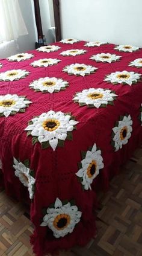
[[[68,214],[59,214],[55,217],[53,225],[58,230],[63,230],[70,224],[70,216]]]

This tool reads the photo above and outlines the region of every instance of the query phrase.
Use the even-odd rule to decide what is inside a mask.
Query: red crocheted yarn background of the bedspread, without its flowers
[[[10,62],[2,59],[0,72],[10,69],[26,69],[29,75],[13,82],[0,82],[0,95],[17,94],[24,95],[32,101],[26,107],[25,113],[17,113],[0,117],[0,185],[5,188],[8,195],[18,200],[25,198],[29,202],[27,188],[14,175],[13,157],[21,162],[29,159],[30,168],[36,174],[36,191],[31,202],[31,221],[35,225],[34,234],[31,237],[33,251],[37,256],[43,256],[48,252],[58,249],[69,249],[74,245],[84,246],[93,235],[96,234],[95,217],[93,210],[96,208],[96,192],[108,189],[109,180],[120,171],[120,166],[130,158],[135,148],[142,141],[142,126],[138,119],[142,103],[142,83],[137,82],[132,86],[104,82],[105,76],[116,71],[134,71],[142,74],[142,68],[128,66],[129,62],[142,57],[142,50],[132,53],[114,50],[115,45],[105,44],[96,47],[84,46],[85,42],[71,44],[55,43],[61,47],[52,53],[29,51],[34,57],[22,62]],[[87,53],[79,56],[61,56],[62,51],[71,49],[87,50]],[[122,56],[120,61],[112,63],[95,62],[90,60],[97,53],[111,53]],[[34,60],[43,58],[60,59],[57,65],[45,67],[33,67],[29,65]],[[73,63],[84,63],[98,68],[94,74],[82,76],[69,75],[63,68]],[[29,89],[29,83],[40,77],[57,77],[69,82],[69,87],[64,91],[50,93],[35,92]],[[114,106],[89,108],[79,106],[73,101],[76,92],[83,89],[103,88],[111,89],[118,95],[114,100]],[[51,147],[42,149],[40,142],[32,145],[32,136],[26,136],[25,128],[28,121],[49,110],[69,113],[79,123],[76,130],[72,131],[73,139],[64,141],[64,147],[58,147],[55,151]],[[120,116],[131,115],[133,121],[132,134],[128,143],[122,149],[115,152],[111,146],[111,133]],[[82,190],[81,183],[75,173],[78,172],[78,162],[81,162],[81,151],[87,152],[89,147],[96,143],[101,150],[104,168],[93,180],[91,190]],[[75,200],[76,206],[82,212],[81,220],[76,224],[73,232],[64,237],[55,238],[48,226],[40,226],[43,220],[43,208],[48,208],[57,197],[62,200]]]

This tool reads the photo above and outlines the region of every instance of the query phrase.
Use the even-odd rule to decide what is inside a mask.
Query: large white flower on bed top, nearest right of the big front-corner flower
[[[102,88],[89,88],[84,89],[82,92],[76,93],[73,100],[79,103],[79,106],[89,107],[106,107],[108,104],[113,104],[117,95],[109,89]]]

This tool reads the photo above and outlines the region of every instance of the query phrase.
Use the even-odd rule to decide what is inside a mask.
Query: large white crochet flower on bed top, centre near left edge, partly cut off
[[[24,96],[19,97],[17,94],[0,95],[0,117],[25,112],[25,107],[30,103]]]

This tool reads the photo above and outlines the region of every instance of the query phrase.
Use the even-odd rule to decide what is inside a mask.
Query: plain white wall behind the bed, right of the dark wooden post
[[[60,0],[63,38],[142,46],[142,0]]]

